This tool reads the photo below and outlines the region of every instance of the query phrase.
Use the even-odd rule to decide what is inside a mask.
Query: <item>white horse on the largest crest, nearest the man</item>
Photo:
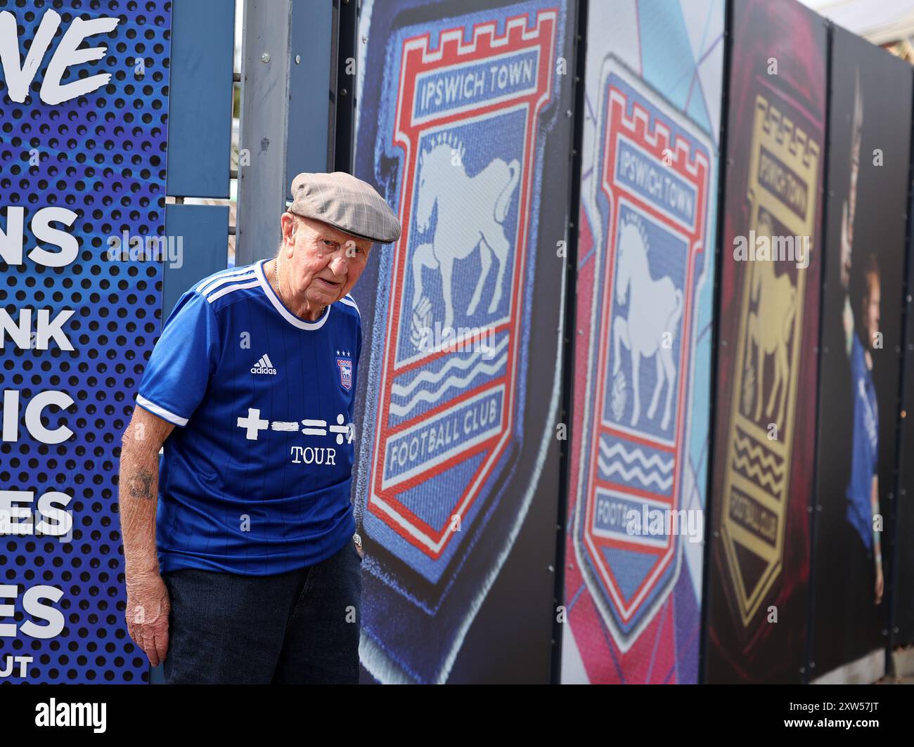
[[[498,308],[502,298],[508,250],[511,248],[502,224],[520,177],[520,163],[517,159],[505,163],[501,158],[494,158],[479,174],[467,176],[466,169],[463,168],[463,150],[456,138],[444,135],[433,141],[430,150],[423,151],[420,156],[416,226],[420,231],[429,227],[431,212],[436,204],[438,220],[431,243],[421,244],[413,252],[412,308],[415,310],[424,298],[422,268],[439,270],[444,296],[443,326],[446,328],[453,326],[454,260],[469,256],[477,246],[482,271],[476,280],[466,314],[472,316],[479,305],[485,279],[492,267],[493,255],[498,260],[498,271],[488,311],[492,314]],[[430,304],[423,304],[423,308],[429,307]],[[416,326],[417,323],[420,321],[414,318],[413,325]]]

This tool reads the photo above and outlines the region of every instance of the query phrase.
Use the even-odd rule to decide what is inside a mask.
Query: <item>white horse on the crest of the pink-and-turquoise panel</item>
[[[647,237],[643,227],[636,222],[622,227],[616,252],[616,276],[619,302],[625,303],[630,289],[631,300],[628,316],[617,316],[612,321],[612,374],[614,376],[618,373],[622,365],[619,353],[620,345],[624,345],[632,353],[632,426],[635,426],[641,417],[641,380],[638,368],[642,358],[655,356],[657,383],[654,385],[654,396],[647,409],[647,416],[649,419],[654,418],[661,389],[666,384],[666,405],[660,423],[660,427],[666,430],[670,424],[670,405],[676,377],[673,341],[675,326],[682,315],[683,294],[669,277],[658,280],[651,278],[647,264]],[[668,335],[668,345],[663,344],[664,334]]]

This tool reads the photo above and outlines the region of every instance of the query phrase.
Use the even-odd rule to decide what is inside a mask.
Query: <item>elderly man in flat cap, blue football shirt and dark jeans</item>
[[[169,683],[358,680],[348,293],[400,226],[342,173],[296,176],[281,224],[178,301],[123,436],[127,626]]]

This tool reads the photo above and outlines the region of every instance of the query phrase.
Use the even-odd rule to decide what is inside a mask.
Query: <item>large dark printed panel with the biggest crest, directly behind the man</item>
[[[403,226],[356,293],[362,661],[546,681],[573,19],[406,5],[368,5],[361,34],[356,175]]]

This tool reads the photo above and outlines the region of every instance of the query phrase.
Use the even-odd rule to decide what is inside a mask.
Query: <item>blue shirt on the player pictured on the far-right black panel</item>
[[[879,410],[873,375],[866,368],[866,351],[854,335],[851,381],[854,384],[854,452],[847,484],[847,521],[867,550],[873,549],[873,506],[870,494],[879,462]]]

